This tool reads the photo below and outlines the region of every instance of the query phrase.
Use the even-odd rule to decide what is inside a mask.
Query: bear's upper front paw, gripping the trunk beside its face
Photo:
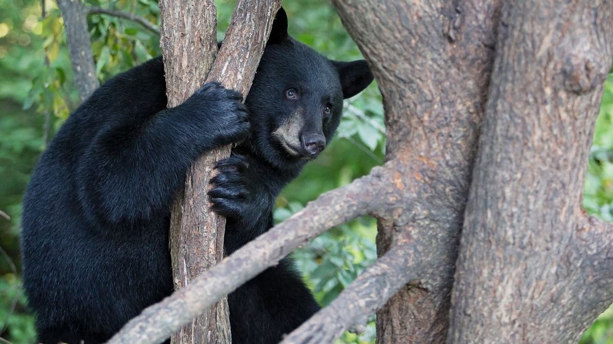
[[[204,121],[217,146],[239,143],[249,136],[249,113],[242,103],[243,95],[220,83],[206,83],[181,105],[189,113],[196,113]]]

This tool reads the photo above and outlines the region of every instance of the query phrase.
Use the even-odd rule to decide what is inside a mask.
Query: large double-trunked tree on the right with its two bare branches
[[[379,342],[576,341],[613,301],[613,225],[581,209],[611,4],[334,4],[384,96],[385,165],[147,308],[112,342],[144,329],[163,340],[362,214],[379,220],[379,260],[284,342],[329,342],[375,310]]]

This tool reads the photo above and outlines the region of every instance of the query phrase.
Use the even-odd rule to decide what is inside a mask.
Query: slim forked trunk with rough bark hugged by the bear
[[[161,45],[169,107],[183,102],[210,81],[219,81],[246,95],[280,6],[280,0],[239,0],[219,56],[210,69],[217,51],[214,2],[161,1]],[[188,173],[183,194],[173,205],[170,251],[176,290],[184,288],[223,257],[226,222],[210,211],[206,192],[215,162],[227,157],[229,152],[230,148],[226,147],[200,157]],[[173,335],[172,340],[227,343],[229,333],[224,298]]]

